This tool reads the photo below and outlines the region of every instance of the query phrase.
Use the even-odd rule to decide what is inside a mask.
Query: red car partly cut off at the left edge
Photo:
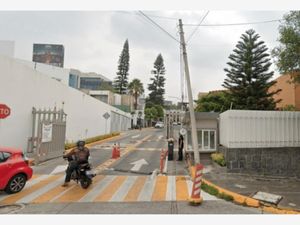
[[[0,147],[0,190],[9,194],[21,191],[32,177],[32,169],[22,150]]]

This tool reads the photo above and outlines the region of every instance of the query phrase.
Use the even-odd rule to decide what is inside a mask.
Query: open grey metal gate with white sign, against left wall
[[[27,153],[35,164],[63,154],[66,137],[66,114],[63,110],[32,109],[32,136]]]

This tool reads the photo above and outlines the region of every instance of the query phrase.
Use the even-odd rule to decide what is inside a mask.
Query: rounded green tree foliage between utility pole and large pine
[[[211,92],[196,101],[197,112],[224,112],[230,108],[230,96],[225,91]]]

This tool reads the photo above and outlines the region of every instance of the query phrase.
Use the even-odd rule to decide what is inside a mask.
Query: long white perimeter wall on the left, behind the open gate
[[[68,141],[105,133],[103,114],[111,111],[126,117],[124,128],[130,128],[129,113],[107,105],[74,88],[49,78],[15,59],[0,56],[0,103],[11,108],[11,115],[0,120],[0,145],[27,148],[32,129],[32,107],[62,107],[67,114]],[[110,131],[110,118],[107,131]]]

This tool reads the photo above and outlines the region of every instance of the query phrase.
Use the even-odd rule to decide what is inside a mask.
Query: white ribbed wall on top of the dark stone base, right
[[[229,148],[300,147],[300,112],[228,110],[220,144]]]

